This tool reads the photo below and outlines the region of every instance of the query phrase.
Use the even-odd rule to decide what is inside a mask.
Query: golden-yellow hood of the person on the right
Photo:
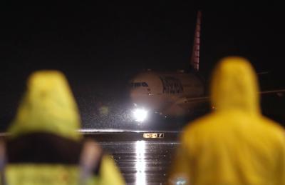
[[[214,69],[211,103],[217,111],[241,110],[258,114],[259,88],[252,65],[242,57],[222,59]]]

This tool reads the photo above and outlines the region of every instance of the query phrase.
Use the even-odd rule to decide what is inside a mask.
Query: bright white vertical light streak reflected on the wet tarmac
[[[135,185],[145,185],[145,141],[137,141],[135,144],[136,162]]]

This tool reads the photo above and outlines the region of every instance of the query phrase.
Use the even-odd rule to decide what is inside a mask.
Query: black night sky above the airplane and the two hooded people
[[[142,69],[187,68],[198,9],[205,79],[221,57],[240,55],[257,71],[270,71],[264,88],[285,87],[284,13],[278,4],[174,2],[2,4],[1,128],[14,116],[28,74],[38,69],[63,71],[88,115],[94,101],[118,98]]]

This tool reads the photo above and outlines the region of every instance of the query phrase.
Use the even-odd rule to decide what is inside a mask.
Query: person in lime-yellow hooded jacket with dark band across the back
[[[113,159],[95,141],[84,141],[80,127],[65,76],[59,71],[31,74],[9,137],[1,144],[1,184],[125,184]]]

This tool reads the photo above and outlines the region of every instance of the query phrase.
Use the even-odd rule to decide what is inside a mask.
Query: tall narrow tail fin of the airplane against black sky
[[[199,52],[200,52],[200,32],[201,32],[201,11],[197,13],[197,22],[194,35],[194,44],[190,64],[192,69],[199,71]]]

